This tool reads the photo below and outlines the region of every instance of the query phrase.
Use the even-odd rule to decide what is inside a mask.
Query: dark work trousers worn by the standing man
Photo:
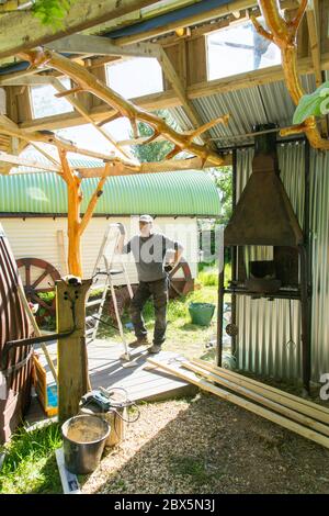
[[[147,329],[141,315],[147,300],[152,296],[155,305],[156,325],[154,344],[161,345],[166,339],[167,304],[168,304],[168,278],[157,281],[140,281],[131,304],[132,321],[137,338],[145,338]]]

